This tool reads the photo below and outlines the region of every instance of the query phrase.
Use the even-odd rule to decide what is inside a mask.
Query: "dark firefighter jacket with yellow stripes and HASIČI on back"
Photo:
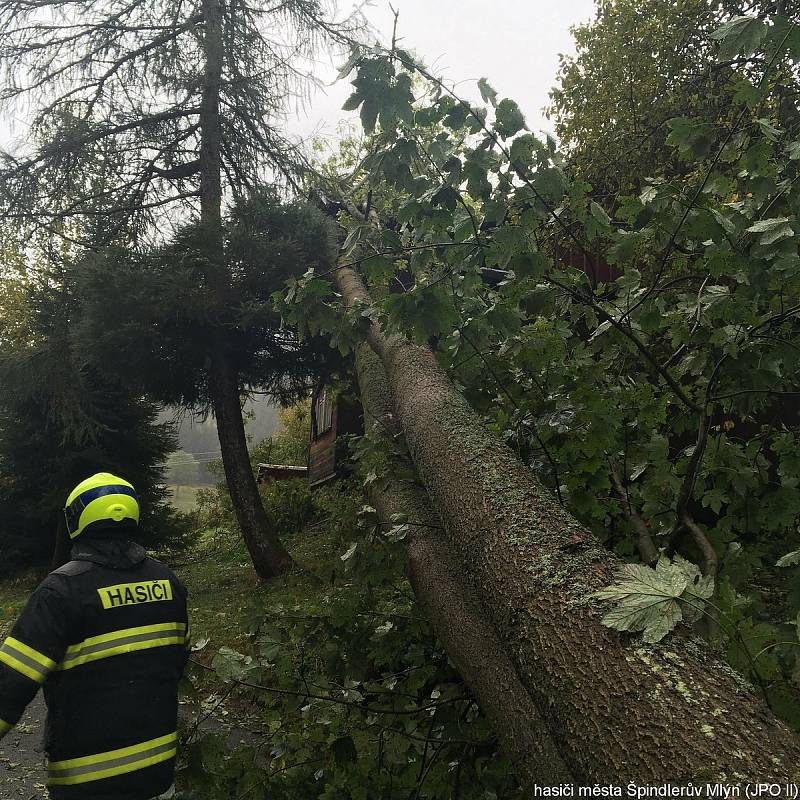
[[[186,590],[125,540],[89,539],[36,589],[0,648],[0,738],[40,686],[53,800],[144,800],[175,766]]]

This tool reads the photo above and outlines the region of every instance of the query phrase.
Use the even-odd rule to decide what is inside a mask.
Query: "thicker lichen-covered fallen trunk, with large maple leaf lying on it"
[[[369,303],[349,268],[348,305]],[[417,472],[464,580],[576,782],[796,782],[800,738],[701,641],[659,645],[602,625],[588,596],[620,562],[492,436],[433,354],[373,323]]]

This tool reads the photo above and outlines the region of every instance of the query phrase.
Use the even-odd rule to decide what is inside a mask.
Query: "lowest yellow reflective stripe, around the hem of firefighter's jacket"
[[[53,761],[48,767],[50,786],[69,786],[77,783],[113,778],[128,772],[152,767],[174,758],[177,752],[178,734],[170,733],[149,742],[140,742],[131,747],[98,753],[95,756],[71,758],[68,761]]]

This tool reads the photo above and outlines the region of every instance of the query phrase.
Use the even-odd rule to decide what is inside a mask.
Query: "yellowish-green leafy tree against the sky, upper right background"
[[[550,93],[549,114],[574,175],[592,185],[598,200],[611,202],[641,192],[647,178],[683,171],[668,144],[672,120],[730,122],[738,113],[734,97],[764,63],[754,48],[718,58],[711,35],[724,20],[777,5],[597,0],[594,20],[573,29],[575,53],[561,56]],[[788,63],[774,68],[770,80],[766,106],[780,106],[782,127],[796,125]]]

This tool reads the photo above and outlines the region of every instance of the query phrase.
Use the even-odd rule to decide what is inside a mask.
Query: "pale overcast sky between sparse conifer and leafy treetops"
[[[360,0],[340,0],[341,12],[354,5]],[[542,109],[555,82],[558,56],[573,51],[569,29],[591,19],[594,0],[393,0],[392,5],[400,12],[402,45],[455,84],[461,96],[478,100],[477,80],[485,77],[500,97],[519,103],[532,130],[552,129]],[[372,0],[363,12],[383,41],[390,41],[389,0]],[[343,60],[335,59],[337,65]],[[317,72],[327,84],[336,77],[330,62],[320,64]],[[357,118],[341,110],[350,92],[346,80],[317,91],[307,108],[287,120],[289,132],[335,139],[340,120]],[[0,117],[0,145],[18,137],[24,141],[24,120]]]

